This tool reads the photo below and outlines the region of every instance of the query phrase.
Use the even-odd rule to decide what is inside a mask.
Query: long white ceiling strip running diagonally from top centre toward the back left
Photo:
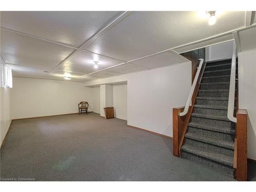
[[[75,51],[73,51],[72,53],[70,53],[65,59],[63,59],[62,61],[60,61],[58,63],[57,66],[55,66],[55,68],[53,70],[55,70],[57,67],[63,65],[63,63],[65,63],[66,61],[68,61],[71,57],[73,57],[76,53],[78,53],[79,51],[82,50],[82,48],[88,44],[90,44],[90,42],[92,42],[95,38],[97,38],[102,32],[106,31],[106,29],[114,26],[116,23],[120,22],[120,20],[122,20],[123,18],[125,18],[126,16],[130,15],[132,12],[131,11],[125,11],[122,14],[120,14],[117,18],[115,18],[114,20],[112,20],[112,22],[110,22],[109,24],[105,25],[103,28],[99,29],[96,33],[94,33],[90,38],[88,38],[86,41],[84,41],[79,47],[78,49],[76,49]],[[52,71],[53,71],[52,70]],[[51,71],[51,72],[52,72]],[[49,73],[51,73],[49,72]],[[48,74],[49,74],[48,73]],[[47,74],[47,75],[48,75]],[[46,75],[46,76],[47,76]]]

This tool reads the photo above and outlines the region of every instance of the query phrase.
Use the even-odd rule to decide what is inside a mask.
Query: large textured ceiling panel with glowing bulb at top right
[[[244,27],[245,12],[223,12],[214,26],[196,11],[138,11],[85,46],[84,49],[132,60]]]

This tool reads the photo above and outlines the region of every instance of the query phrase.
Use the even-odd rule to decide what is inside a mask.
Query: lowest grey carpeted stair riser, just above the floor
[[[224,165],[224,164],[221,164],[221,163],[218,163],[218,162],[215,162],[215,161],[212,161],[212,160],[209,160],[209,159],[206,159],[206,158],[194,155],[194,154],[190,154],[190,153],[187,153],[187,152],[184,152],[184,151],[182,151],[181,156],[183,158],[196,161],[200,164],[205,164],[205,165],[210,166],[214,169],[220,170],[221,172],[225,172],[225,173],[229,174],[230,177],[233,175],[233,167],[231,167],[231,166]]]

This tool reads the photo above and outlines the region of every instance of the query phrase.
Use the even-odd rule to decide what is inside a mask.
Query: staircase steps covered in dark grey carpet
[[[181,157],[232,175],[235,123],[227,118],[230,71],[231,59],[206,63]]]

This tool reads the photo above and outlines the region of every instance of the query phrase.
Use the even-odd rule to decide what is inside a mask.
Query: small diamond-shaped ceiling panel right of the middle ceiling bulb
[[[144,68],[144,67],[138,66],[138,65],[134,65],[132,63],[126,63],[124,65],[121,65],[121,66],[118,66],[118,67],[115,67],[112,69],[108,69],[106,71],[126,74],[126,73],[133,73],[133,72],[143,71],[143,70],[147,70],[147,68]]]

